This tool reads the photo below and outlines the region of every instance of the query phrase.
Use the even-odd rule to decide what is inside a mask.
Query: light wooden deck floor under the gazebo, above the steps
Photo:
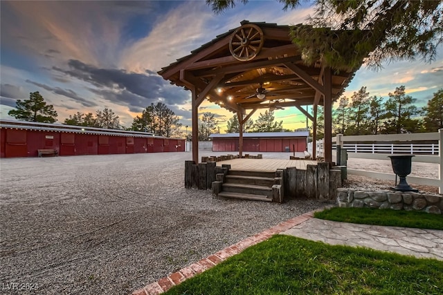
[[[281,159],[233,159],[217,162],[221,164],[230,164],[230,169],[246,171],[276,171],[287,167],[296,167],[306,170],[306,165],[316,165],[317,161],[312,160],[281,160]]]

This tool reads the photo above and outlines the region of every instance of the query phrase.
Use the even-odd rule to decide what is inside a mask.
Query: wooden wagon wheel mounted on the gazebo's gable
[[[229,41],[230,53],[239,61],[249,61],[260,53],[264,35],[260,27],[248,23],[237,28]]]

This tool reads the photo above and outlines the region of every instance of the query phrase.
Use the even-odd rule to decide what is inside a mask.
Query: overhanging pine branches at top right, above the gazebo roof
[[[247,3],[248,0],[238,0]],[[206,0],[214,12],[235,6],[235,0]],[[302,0],[278,0],[283,9],[296,9]],[[306,64],[321,60],[336,69],[356,69],[381,61],[432,61],[443,35],[443,2],[431,0],[361,0],[314,2],[306,25],[291,29],[293,44],[302,48]],[[329,32],[329,28],[335,30]]]

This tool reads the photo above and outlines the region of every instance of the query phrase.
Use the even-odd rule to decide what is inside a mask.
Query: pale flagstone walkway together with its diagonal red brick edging
[[[132,295],[154,295],[168,291],[206,269],[214,267],[230,256],[239,254],[247,247],[262,242],[274,234],[286,234],[325,242],[329,245],[348,245],[368,247],[381,251],[391,251],[417,258],[435,258],[443,260],[443,231],[433,229],[410,229],[406,227],[381,227],[377,225],[357,225],[314,218],[314,212],[308,212],[266,229],[230,247],[180,269],[170,276],[150,283]]]

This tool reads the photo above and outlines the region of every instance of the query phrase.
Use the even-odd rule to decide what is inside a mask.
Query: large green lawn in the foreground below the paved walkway
[[[443,262],[277,235],[166,294],[443,294]]]

